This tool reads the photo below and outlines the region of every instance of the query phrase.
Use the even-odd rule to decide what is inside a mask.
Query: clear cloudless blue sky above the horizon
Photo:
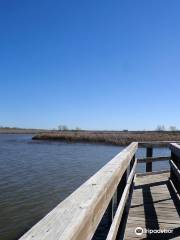
[[[1,0],[0,125],[180,128],[179,0]]]

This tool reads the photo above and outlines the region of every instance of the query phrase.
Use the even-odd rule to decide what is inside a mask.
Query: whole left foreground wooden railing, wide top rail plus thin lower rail
[[[112,223],[107,239],[116,239],[132,190],[137,148],[138,143],[130,144],[20,239],[91,239],[106,211]]]

